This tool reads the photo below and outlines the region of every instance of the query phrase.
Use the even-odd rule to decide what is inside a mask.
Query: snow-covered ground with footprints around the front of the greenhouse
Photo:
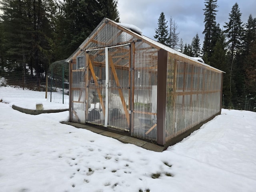
[[[34,116],[11,108],[22,100],[2,100],[1,192],[256,191],[255,112],[223,109],[182,142],[152,152],[61,124],[67,111]]]

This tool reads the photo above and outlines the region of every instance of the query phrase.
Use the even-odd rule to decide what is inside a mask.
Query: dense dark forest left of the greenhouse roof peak
[[[36,76],[68,58],[103,18],[119,21],[116,0],[1,0],[0,9],[0,72]]]

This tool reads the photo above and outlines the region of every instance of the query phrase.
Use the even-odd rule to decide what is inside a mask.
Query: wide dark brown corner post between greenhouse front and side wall
[[[167,51],[158,51],[157,60],[157,143],[165,144],[166,137],[166,78],[167,78]]]

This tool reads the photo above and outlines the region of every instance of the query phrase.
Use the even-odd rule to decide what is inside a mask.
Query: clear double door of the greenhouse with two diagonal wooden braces
[[[87,122],[130,131],[130,44],[87,50],[86,55]]]

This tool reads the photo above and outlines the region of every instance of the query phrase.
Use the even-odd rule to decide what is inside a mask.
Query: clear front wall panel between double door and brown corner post
[[[157,51],[136,42],[133,71],[133,136],[157,139]]]

